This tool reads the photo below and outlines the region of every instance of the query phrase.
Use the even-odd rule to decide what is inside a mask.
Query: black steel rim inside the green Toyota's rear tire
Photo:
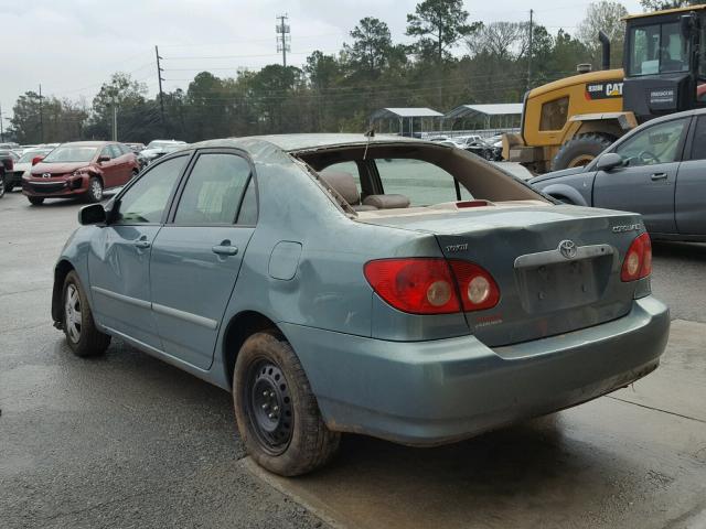
[[[291,441],[295,413],[289,385],[276,364],[265,359],[253,364],[245,402],[263,447],[271,455],[285,452]]]

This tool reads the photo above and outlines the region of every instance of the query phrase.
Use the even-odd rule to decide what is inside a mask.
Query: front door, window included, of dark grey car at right
[[[674,190],[689,121],[653,125],[612,149],[625,166],[596,173],[593,206],[637,212],[649,231],[676,233]]]

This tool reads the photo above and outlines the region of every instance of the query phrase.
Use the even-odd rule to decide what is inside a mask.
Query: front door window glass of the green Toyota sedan
[[[189,156],[154,164],[120,197],[118,224],[156,224],[162,219],[167,202]]]

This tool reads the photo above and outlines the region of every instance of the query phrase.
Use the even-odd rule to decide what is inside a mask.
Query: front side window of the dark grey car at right
[[[682,134],[686,119],[676,119],[649,127],[621,143],[616,152],[630,168],[675,162],[680,159]]]

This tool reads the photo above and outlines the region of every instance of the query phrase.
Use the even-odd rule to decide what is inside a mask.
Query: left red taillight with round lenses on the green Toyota
[[[467,261],[381,259],[367,262],[364,273],[383,300],[411,314],[480,311],[500,300],[500,290],[490,273]]]

